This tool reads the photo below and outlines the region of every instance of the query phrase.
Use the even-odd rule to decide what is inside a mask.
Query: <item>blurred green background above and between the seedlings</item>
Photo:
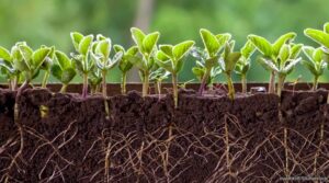
[[[273,42],[290,31],[298,34],[296,42],[317,46],[303,35],[303,30],[321,28],[328,18],[328,0],[1,0],[0,45],[10,48],[18,41],[26,41],[34,48],[42,44],[55,45],[70,53],[73,49],[69,33],[79,31],[101,33],[114,44],[129,46],[133,44],[129,28],[138,26],[160,31],[160,44],[195,39],[197,46],[203,46],[198,30],[205,27],[214,33],[231,33],[237,48],[243,45],[248,34]],[[188,57],[180,81],[194,78],[191,72],[194,65],[195,60]],[[302,81],[311,80],[303,66],[287,80],[298,76],[303,77]],[[253,61],[248,80],[259,82],[268,78],[269,73]],[[118,71],[110,73],[109,79],[118,82]],[[75,82],[79,80],[77,77]],[[139,78],[135,73],[129,80],[139,81]],[[328,80],[326,72],[320,81]]]

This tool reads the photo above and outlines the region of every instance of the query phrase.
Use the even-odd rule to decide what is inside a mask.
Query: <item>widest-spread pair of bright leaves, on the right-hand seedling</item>
[[[271,44],[264,37],[258,35],[248,35],[248,39],[257,47],[257,49],[264,56],[270,58],[276,58],[284,44],[292,42],[296,37],[296,33],[287,33],[280,36],[273,44]]]

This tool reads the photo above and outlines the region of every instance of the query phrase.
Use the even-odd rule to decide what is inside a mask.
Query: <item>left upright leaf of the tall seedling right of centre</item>
[[[205,28],[200,30],[200,35],[208,55],[211,57],[215,56],[220,47],[217,37]]]

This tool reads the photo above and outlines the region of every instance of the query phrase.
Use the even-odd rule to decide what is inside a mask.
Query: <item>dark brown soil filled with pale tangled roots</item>
[[[327,94],[238,93],[232,102],[223,92],[200,96],[189,89],[180,91],[174,108],[170,93],[141,98],[131,91],[104,100],[26,89],[15,101],[15,92],[0,89],[0,182],[326,178]]]

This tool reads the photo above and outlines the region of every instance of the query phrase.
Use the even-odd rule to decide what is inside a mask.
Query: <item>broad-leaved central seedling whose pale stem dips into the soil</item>
[[[171,73],[174,107],[178,107],[178,73],[183,68],[184,56],[193,45],[193,41],[182,42],[174,46],[160,45],[160,50],[157,53],[157,64]]]

